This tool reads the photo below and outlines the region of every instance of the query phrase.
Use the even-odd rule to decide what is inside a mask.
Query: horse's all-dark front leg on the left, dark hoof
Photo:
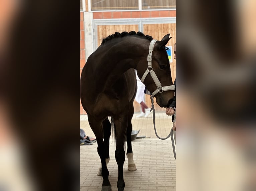
[[[105,150],[105,144],[103,142],[104,133],[103,133],[102,121],[97,121],[93,117],[88,115],[88,122],[97,139],[97,144],[98,144],[97,151],[100,156],[101,166],[102,166],[102,177],[103,177],[102,191],[112,191],[111,184],[108,179],[109,171],[106,165],[106,150]]]

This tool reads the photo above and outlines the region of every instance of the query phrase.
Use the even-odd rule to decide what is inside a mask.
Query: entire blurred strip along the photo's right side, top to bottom
[[[177,1],[177,191],[256,190],[254,2]]]

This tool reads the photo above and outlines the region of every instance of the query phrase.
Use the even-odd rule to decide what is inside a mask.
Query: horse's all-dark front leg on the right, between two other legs
[[[116,132],[116,151],[115,157],[118,166],[118,181],[117,188],[118,191],[123,191],[125,187],[124,175],[123,175],[123,166],[125,161],[125,152],[124,152],[124,137],[126,134],[128,117],[127,114],[122,117],[115,119],[115,132]]]

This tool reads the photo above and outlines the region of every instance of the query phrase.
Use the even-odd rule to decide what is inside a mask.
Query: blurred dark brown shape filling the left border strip
[[[79,12],[26,0],[14,25],[6,95],[38,190],[79,189]]]

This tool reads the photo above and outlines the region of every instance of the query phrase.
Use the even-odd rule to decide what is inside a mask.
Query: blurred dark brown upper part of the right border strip
[[[256,122],[256,57],[243,54],[240,9],[230,0],[177,1],[177,86],[232,128]]]

